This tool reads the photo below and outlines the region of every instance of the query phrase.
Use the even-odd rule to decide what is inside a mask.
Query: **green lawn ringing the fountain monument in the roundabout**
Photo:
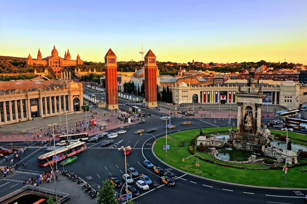
[[[204,134],[210,136],[211,132],[217,132],[218,130],[228,130],[228,128],[203,128]],[[283,131],[281,131],[283,132]],[[289,132],[290,133],[290,132]],[[289,136],[288,133],[288,136]],[[194,135],[198,135],[198,130],[186,130],[182,132],[173,133],[167,136],[167,145],[170,145],[170,149],[167,151],[167,161],[165,156],[165,137],[157,140],[157,149],[154,153],[164,162],[173,166],[181,171],[185,171],[191,174],[197,175],[197,157],[190,157],[182,162],[182,158],[191,156],[188,150],[190,139]],[[223,134],[223,133],[221,133]],[[294,135],[293,135],[294,136]],[[185,147],[178,147],[180,141],[185,141]],[[306,144],[305,144],[306,145]],[[206,154],[206,153],[202,153]],[[209,155],[204,156],[210,158]],[[213,158],[212,158],[213,160]],[[219,163],[222,163],[218,161]],[[266,186],[266,187],[285,187],[284,183],[284,171],[282,170],[245,170],[236,169],[230,167],[218,166],[205,161],[199,161],[199,176],[204,178],[210,178],[218,181],[226,181],[230,183],[251,185],[251,186]],[[237,164],[236,164],[237,165]],[[251,168],[266,168],[259,164],[244,164],[240,166],[246,166]],[[289,168],[287,173],[287,188],[306,188],[307,173],[301,173],[298,170],[305,168],[304,166]],[[298,182],[299,181],[299,182]]]

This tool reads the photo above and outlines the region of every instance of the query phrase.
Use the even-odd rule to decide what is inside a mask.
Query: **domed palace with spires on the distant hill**
[[[70,59],[69,49],[67,49],[67,53],[65,51],[64,58],[59,57],[59,53],[57,52],[56,46],[53,46],[51,51],[51,56],[46,58],[41,57],[40,49],[38,49],[37,59],[32,59],[30,53],[28,59],[26,60],[26,64],[42,64],[49,67],[65,67],[65,66],[73,66],[78,64],[83,64],[83,60],[80,59],[78,54],[76,60]]]

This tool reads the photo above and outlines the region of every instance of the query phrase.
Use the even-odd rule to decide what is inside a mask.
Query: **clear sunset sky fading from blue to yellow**
[[[0,55],[307,65],[307,1],[2,1]]]

